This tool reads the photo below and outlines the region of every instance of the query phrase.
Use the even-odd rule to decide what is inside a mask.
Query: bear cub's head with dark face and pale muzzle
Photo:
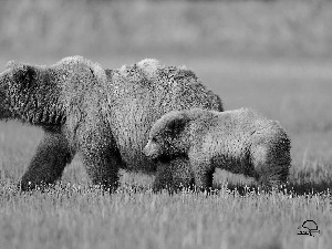
[[[149,131],[144,154],[154,160],[170,160],[178,156],[187,156],[189,123],[184,112],[175,111],[162,116]]]

